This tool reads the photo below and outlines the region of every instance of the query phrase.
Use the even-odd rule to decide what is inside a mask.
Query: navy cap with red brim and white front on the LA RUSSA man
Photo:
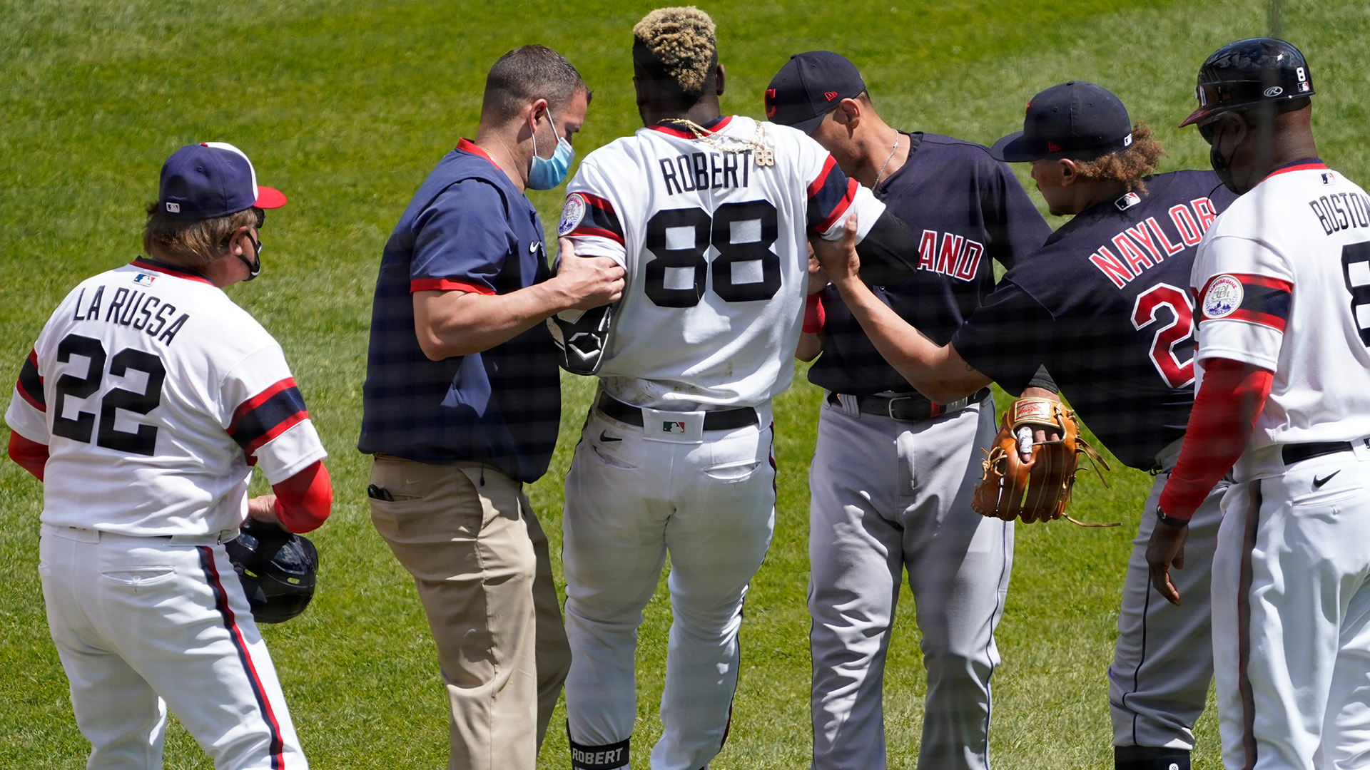
[[[171,219],[212,219],[253,206],[281,208],[285,195],[259,188],[252,162],[232,144],[188,144],[162,164],[158,210]]]

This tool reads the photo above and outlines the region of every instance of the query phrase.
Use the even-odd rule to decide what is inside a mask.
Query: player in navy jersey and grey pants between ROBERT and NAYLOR
[[[918,270],[871,292],[940,343],[993,290],[991,259],[1012,266],[1051,234],[986,148],[889,127],[837,53],[792,56],[766,90],[766,114],[818,140],[922,234]],[[927,669],[919,766],[988,767],[993,630],[1012,564],[1012,523],[970,508],[996,433],[989,389],[929,401],[880,356],[836,288],[810,296],[804,330],[800,358],[822,351],[808,378],[825,389],[810,469],[814,767],[885,766],[881,680],[906,569]],[[1055,399],[1045,375],[1028,390]]]

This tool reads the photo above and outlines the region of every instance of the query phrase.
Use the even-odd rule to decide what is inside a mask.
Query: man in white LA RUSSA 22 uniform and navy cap
[[[329,515],[325,451],[281,347],[223,293],[285,196],[229,144],[182,147],[147,258],[82,281],[19,371],[10,456],[44,481],[48,628],[86,767],[160,767],[166,712],[223,769],[306,767],[222,543]],[[247,499],[256,464],[275,495]]]

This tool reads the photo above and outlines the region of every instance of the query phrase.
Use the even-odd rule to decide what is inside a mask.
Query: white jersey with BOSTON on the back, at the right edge
[[[1214,222],[1191,284],[1201,310],[1195,360],[1274,371],[1238,480],[1282,473],[1267,462],[1275,445],[1370,436],[1365,190],[1321,162],[1275,170]]]

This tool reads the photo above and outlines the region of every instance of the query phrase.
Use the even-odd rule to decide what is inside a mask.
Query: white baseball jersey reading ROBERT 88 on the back
[[[799,341],[807,236],[859,236],[884,204],[803,132],[725,116],[704,141],[655,125],[596,149],[567,186],[558,232],[623,266],[600,367],[621,401],[662,410],[758,406],[785,390]],[[760,141],[774,164],[758,164]]]

